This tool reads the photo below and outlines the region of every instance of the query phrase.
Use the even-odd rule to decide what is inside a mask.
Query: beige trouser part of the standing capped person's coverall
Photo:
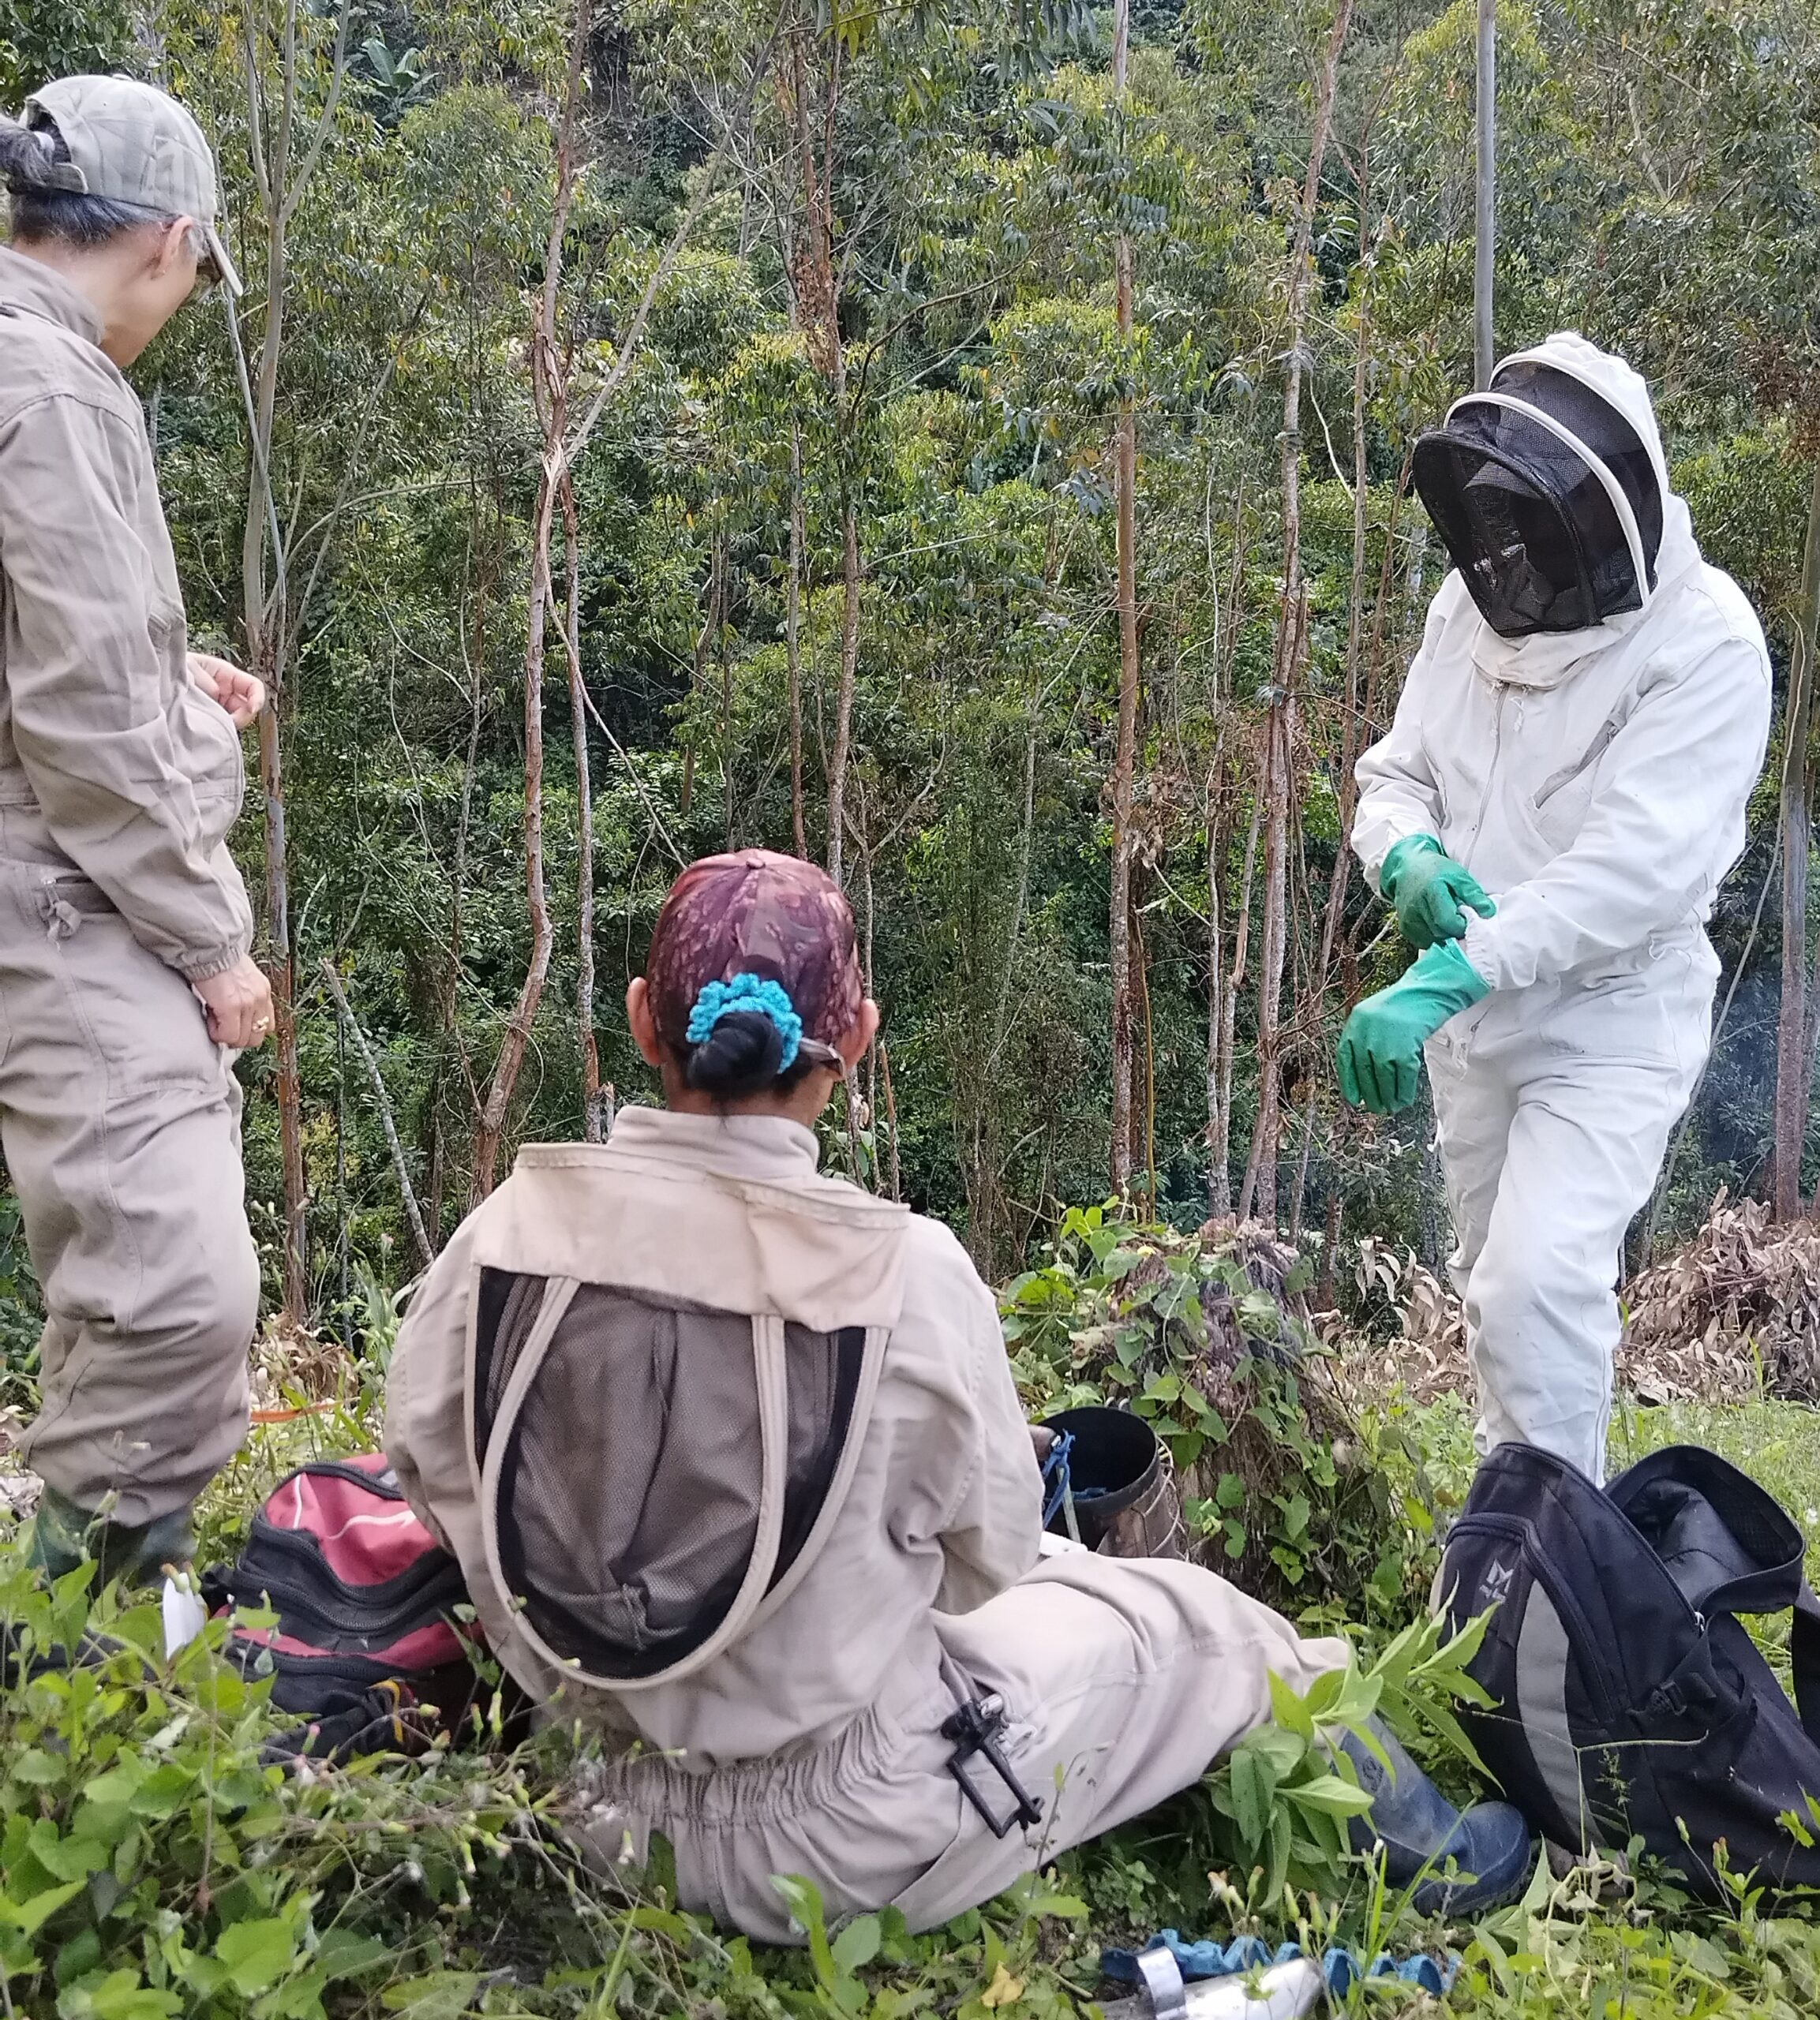
[[[240,1091],[188,982],[85,877],[0,858],[0,1147],[44,1289],[24,1456],[83,1509],[188,1507],[246,1430]]]

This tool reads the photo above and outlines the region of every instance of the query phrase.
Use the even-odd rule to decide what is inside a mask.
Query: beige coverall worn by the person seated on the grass
[[[755,1432],[727,1422],[713,1388],[747,1349],[727,1335],[721,1359],[677,1380],[669,1335],[652,1329],[622,1351],[596,1317],[547,1416],[574,1424],[598,1408],[606,1442],[616,1420],[632,1418],[634,1436],[612,1454],[570,1444],[570,1527],[539,1545],[535,1509],[549,1509],[551,1483],[541,1499],[513,1499],[507,1519],[499,1509],[503,1469],[549,1428],[527,1430],[521,1414],[513,1436],[477,1434],[511,1416],[513,1388],[523,1398],[539,1380],[523,1380],[535,1327],[513,1349],[505,1402],[497,1355],[481,1366],[495,1331],[509,1331],[491,1317],[507,1277],[580,1283],[572,1313],[588,1285],[616,1285],[679,1327],[689,1313],[739,1313],[757,1333],[774,1321],[865,1327],[877,1343],[808,1545],[731,1644],[709,1642],[671,1681],[578,1681],[580,1664],[539,1646],[523,1592],[578,1584],[574,1529],[679,1420],[699,1412],[723,1434],[719,1475],[699,1475],[695,1501],[739,1469]],[[648,1422],[640,1386],[663,1392]],[[525,1149],[406,1317],[386,1450],[461,1559],[505,1666],[564,1713],[640,1743],[606,1778],[602,1830],[628,1816],[661,1828],[685,1905],[762,1939],[790,1939],[770,1885],[786,1873],[814,1879],[830,1915],[895,1903],[933,1927],[1192,1784],[1269,1717],[1271,1671],[1305,1689],[1345,1660],[1343,1642],[1301,1640],[1196,1566],[1038,1561],[1040,1483],[990,1291],[947,1228],[820,1178],[814,1135],[782,1119],[626,1109],[606,1145]],[[576,1493],[576,1481],[598,1485]],[[687,1507],[675,1505],[671,1531]],[[1044,1806],[1038,1826],[1006,1838],[964,1800],[939,1733],[962,1699],[988,1691],[1010,1709],[1006,1751]],[[974,1780],[1002,1816],[1010,1796],[982,1768],[974,1759]]]

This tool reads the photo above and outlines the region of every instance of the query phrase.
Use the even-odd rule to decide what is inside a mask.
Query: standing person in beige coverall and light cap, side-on
[[[238,279],[162,91],[69,77],[0,121],[0,1143],[44,1287],[36,1551],[190,1553],[246,1426],[259,1258],[232,1052],[273,1026],[226,834],[252,677],[186,650],[123,378]]]

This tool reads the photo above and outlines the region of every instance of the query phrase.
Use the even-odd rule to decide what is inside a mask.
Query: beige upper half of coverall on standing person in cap
[[[0,246],[0,856],[75,865],[200,982],[252,941],[240,737],[190,681],[145,416],[99,339]]]

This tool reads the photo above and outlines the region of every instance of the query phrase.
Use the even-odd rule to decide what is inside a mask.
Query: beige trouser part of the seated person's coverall
[[[925,1664],[828,1743],[691,1772],[661,1757],[608,1772],[606,1794],[663,1830],[685,1907],[792,1941],[774,1875],[812,1879],[830,1923],[895,1905],[933,1929],[1046,1858],[1190,1788],[1271,1717],[1271,1673],[1305,1691],[1345,1664],[1214,1572],[1159,1557],[1050,1557],[972,1614],[935,1614]],[[996,1838],[947,1772],[941,1721],[996,1691],[1004,1751],[1042,1822]],[[968,1768],[1002,1818],[1012,1798]],[[608,1850],[606,1832],[596,1844]]]

